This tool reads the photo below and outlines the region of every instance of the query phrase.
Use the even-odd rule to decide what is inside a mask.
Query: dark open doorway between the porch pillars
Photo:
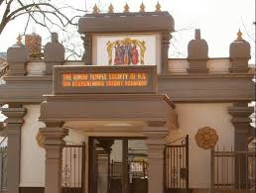
[[[148,193],[145,139],[89,138],[89,192]]]

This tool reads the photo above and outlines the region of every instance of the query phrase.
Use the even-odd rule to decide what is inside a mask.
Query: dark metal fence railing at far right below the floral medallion
[[[255,155],[211,149],[211,190],[255,190]]]

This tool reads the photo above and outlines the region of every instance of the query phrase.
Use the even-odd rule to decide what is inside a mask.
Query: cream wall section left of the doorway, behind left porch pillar
[[[45,186],[45,149],[36,141],[39,128],[45,127],[38,122],[40,105],[24,105],[27,115],[21,133],[21,187]],[[69,135],[64,139],[67,145],[79,144],[84,138],[82,134],[69,130]]]

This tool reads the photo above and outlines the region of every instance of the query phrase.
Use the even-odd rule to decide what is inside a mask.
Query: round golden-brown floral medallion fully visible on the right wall
[[[197,131],[195,141],[199,147],[208,149],[217,144],[218,136],[214,129],[204,127]]]

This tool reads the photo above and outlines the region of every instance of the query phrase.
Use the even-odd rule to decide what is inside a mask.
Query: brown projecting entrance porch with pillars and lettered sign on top
[[[75,86],[73,77],[77,73],[128,73],[135,82],[144,73],[147,86],[108,87],[105,82],[103,87]],[[82,130],[89,138],[85,193],[164,191],[165,139],[178,121],[175,105],[166,95],[157,93],[156,77],[153,65],[54,68],[54,93],[45,96],[39,118],[46,125],[40,129],[46,149],[45,193],[62,192],[62,152],[68,128]],[[129,139],[124,138],[127,136]],[[144,145],[141,152],[136,150],[137,141],[141,141],[137,145]]]

